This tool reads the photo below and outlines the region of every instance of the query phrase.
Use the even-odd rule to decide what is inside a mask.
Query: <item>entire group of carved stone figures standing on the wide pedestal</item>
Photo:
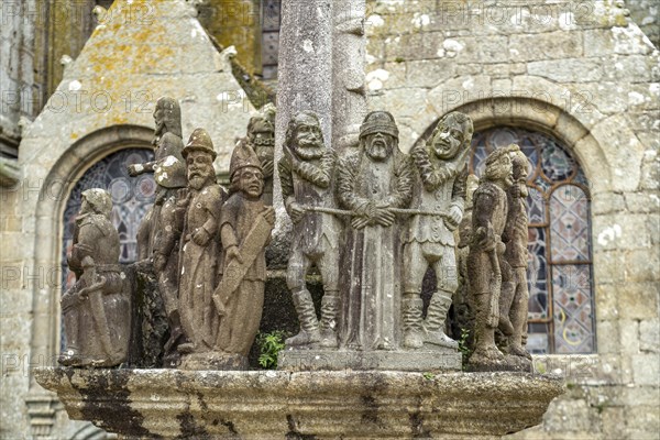
[[[494,151],[479,186],[469,185],[473,125],[465,114],[444,116],[426,144],[405,154],[386,111],[369,113],[359,147],[342,152],[328,145],[319,118],[302,111],[288,122],[275,164],[274,117],[266,109],[250,120],[226,189],[216,180],[209,134],[197,129],[184,145],[178,102],[161,98],[154,162],[129,166],[131,176],[153,173],[157,185],[138,243],[166,312],[167,365],[249,367],[264,305],[276,167],[293,222],[286,284],[300,322],[282,366],[298,353],[309,354],[310,367],[359,369],[365,364],[341,356],[359,353],[362,361],[375,356],[372,367],[402,370],[458,355],[460,369],[446,321],[462,280],[473,317],[468,366],[529,371],[528,162],[517,145]],[[118,264],[111,210],[106,190],[82,193],[68,258],[77,280],[62,298],[65,366],[117,366],[130,350],[134,282]],[[312,266],[323,285],[320,317],[306,284]],[[425,317],[429,268],[436,290]],[[410,365],[422,358],[431,363]]]

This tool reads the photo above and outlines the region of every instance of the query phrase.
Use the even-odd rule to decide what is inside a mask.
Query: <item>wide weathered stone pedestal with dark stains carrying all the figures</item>
[[[37,369],[70,418],[128,438],[495,439],[563,393],[519,373]],[[305,437],[308,438],[308,437]]]

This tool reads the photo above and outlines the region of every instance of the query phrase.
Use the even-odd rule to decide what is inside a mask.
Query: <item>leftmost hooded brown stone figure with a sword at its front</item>
[[[62,297],[66,366],[114,366],[125,361],[131,298],[119,265],[119,234],[110,222],[112,199],[103,189],[82,193],[68,266],[76,284]]]

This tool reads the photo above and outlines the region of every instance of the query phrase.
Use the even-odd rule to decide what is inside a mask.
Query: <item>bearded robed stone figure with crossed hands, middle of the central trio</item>
[[[337,195],[351,211],[342,257],[341,345],[396,350],[400,331],[400,233],[396,209],[413,197],[410,160],[398,148],[398,129],[386,111],[369,113],[360,150],[339,161]]]

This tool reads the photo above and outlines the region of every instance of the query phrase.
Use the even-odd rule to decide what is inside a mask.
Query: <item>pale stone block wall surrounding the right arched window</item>
[[[568,393],[513,438],[660,429],[660,67],[629,15],[620,1],[369,2],[370,107],[394,113],[402,148],[458,109],[476,130],[554,134],[591,184],[597,353],[537,358],[537,371],[566,376]]]

